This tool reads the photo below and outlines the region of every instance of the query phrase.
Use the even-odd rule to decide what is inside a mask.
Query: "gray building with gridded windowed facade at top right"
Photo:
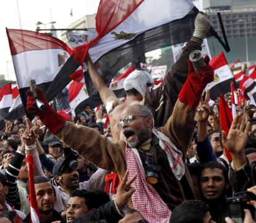
[[[223,38],[217,12],[221,12],[223,25],[231,51],[225,53],[229,63],[241,59],[255,64],[256,61],[256,1],[255,0],[202,0],[203,11],[211,20],[211,25]],[[247,44],[246,44],[247,42]],[[217,56],[223,48],[211,38],[208,45],[212,56]]]

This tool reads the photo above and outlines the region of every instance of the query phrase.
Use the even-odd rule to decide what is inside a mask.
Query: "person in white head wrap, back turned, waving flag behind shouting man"
[[[99,91],[101,100],[108,111],[114,141],[120,138],[120,129],[117,127],[117,122],[120,119],[121,111],[133,104],[145,104],[149,107],[155,118],[156,127],[166,124],[173,112],[179,91],[187,78],[189,54],[196,49],[202,49],[201,44],[209,28],[210,20],[207,15],[199,12],[195,18],[194,35],[188,41],[181,57],[164,77],[164,83],[158,85],[157,88],[152,88],[150,87],[153,84],[151,75],[145,70],[134,70],[124,81],[124,90],[126,90],[127,94],[124,103],[106,86],[92,60],[87,57],[90,78],[92,78],[92,82]]]

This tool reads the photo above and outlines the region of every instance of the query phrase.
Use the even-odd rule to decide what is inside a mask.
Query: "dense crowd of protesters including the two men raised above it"
[[[87,105],[67,120],[39,88],[45,111],[28,91],[35,118],[7,120],[0,132],[0,222],[33,222],[28,156],[40,222],[254,222],[256,107],[237,106],[229,133],[221,131],[219,100],[209,103],[210,91],[202,98],[213,80],[208,58],[200,74],[188,62],[209,28],[198,14],[164,83],[152,88],[150,75],[135,70],[124,103],[89,56],[97,111]],[[224,99],[231,109],[231,95]]]

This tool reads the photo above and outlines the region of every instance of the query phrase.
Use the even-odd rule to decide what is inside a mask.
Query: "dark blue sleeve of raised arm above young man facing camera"
[[[200,164],[204,164],[209,161],[216,161],[216,156],[213,152],[213,147],[211,146],[209,137],[205,138],[203,141],[197,141],[196,138],[195,144],[197,145],[197,154]]]

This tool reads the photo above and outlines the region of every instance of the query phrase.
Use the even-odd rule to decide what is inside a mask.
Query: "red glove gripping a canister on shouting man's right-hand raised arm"
[[[202,74],[195,72],[192,62],[189,60],[189,75],[179,93],[179,101],[187,104],[189,107],[198,106],[203,90],[214,79],[214,70],[209,65],[209,57],[206,56],[203,60],[207,65],[203,69],[200,69]]]

